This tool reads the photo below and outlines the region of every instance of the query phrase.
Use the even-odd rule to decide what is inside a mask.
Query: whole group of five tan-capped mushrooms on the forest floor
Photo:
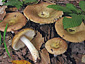
[[[70,42],[82,42],[85,40],[85,24],[82,22],[80,26],[64,29],[63,27],[63,11],[47,8],[48,5],[53,3],[41,2],[39,4],[28,5],[23,13],[12,12],[7,13],[2,22],[0,22],[0,31],[4,31],[6,24],[8,24],[7,32],[21,29],[27,23],[27,20],[31,20],[39,24],[55,23],[56,32],[65,40]],[[58,20],[57,20],[58,19]],[[56,21],[57,20],[57,21]],[[31,40],[36,35],[36,31],[31,28],[25,28],[15,34],[12,40],[12,48],[19,50],[25,45],[29,49],[33,61],[40,60],[39,51],[31,43]],[[68,44],[66,41],[59,37],[49,39],[45,43],[46,50],[54,55],[60,55],[66,52]]]

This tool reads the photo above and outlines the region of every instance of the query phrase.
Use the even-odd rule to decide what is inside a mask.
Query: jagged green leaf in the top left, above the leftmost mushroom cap
[[[21,2],[19,0],[9,0],[4,5],[16,6],[17,9],[20,9],[21,6],[23,6],[23,2]]]

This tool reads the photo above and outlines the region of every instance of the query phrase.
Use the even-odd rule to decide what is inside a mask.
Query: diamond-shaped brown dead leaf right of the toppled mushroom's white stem
[[[39,51],[41,45],[44,43],[44,38],[40,34],[40,32],[37,31],[37,35],[34,37],[34,39],[31,41],[35,48]]]

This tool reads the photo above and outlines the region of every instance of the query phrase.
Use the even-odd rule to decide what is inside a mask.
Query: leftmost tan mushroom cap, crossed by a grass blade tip
[[[20,12],[7,13],[4,20],[0,22],[1,31],[4,31],[7,23],[8,23],[7,32],[10,32],[12,30],[18,30],[22,28],[27,23],[27,20],[25,16]]]

